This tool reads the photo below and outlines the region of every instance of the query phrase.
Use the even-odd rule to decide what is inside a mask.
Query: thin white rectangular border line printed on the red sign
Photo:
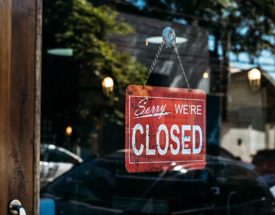
[[[205,160],[205,101],[203,99],[182,99],[182,98],[166,98],[166,97],[152,97],[152,96],[139,96],[139,95],[130,95],[129,96],[129,163],[172,163],[172,162],[190,162],[190,161],[153,161],[153,162],[130,162],[130,99],[131,97],[143,97],[143,98],[157,98],[157,99],[181,99],[181,100],[197,100],[197,101],[203,101],[203,138],[204,138],[204,147],[203,147],[203,160],[191,160],[192,162],[196,161],[204,161]]]

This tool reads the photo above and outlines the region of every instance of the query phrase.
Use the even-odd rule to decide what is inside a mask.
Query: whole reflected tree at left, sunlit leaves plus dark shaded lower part
[[[111,106],[110,120],[121,124],[124,117],[119,101],[124,99],[125,87],[145,79],[146,68],[129,54],[116,51],[108,42],[112,34],[135,31],[118,21],[117,15],[111,7],[94,7],[86,0],[44,1],[42,118],[53,122],[59,137],[64,138],[62,129],[70,124],[72,140],[84,134],[91,139],[91,131],[99,123],[98,111],[103,106]],[[72,48],[73,56],[49,55],[50,48]],[[103,97],[101,89],[106,76],[114,80],[114,94],[108,99]],[[87,89],[93,92],[90,99],[95,103],[81,103],[80,92]],[[57,142],[63,142],[62,138]]]

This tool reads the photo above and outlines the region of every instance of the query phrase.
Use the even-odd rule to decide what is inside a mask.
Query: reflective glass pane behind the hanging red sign
[[[274,12],[269,0],[44,1],[40,215],[275,213]],[[144,84],[168,26],[207,95],[206,166],[128,173],[125,89]],[[146,85],[187,88],[173,47],[154,64]]]

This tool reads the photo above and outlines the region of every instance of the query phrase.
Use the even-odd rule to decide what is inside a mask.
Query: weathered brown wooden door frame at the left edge
[[[42,0],[0,1],[0,210],[39,214]]]

